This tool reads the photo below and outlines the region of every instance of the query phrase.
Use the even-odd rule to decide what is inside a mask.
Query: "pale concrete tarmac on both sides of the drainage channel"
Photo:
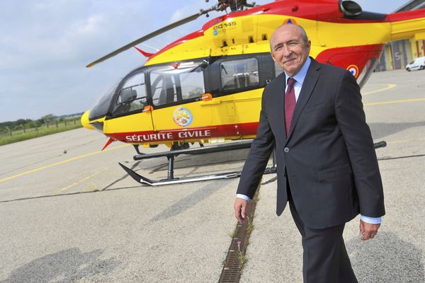
[[[363,103],[384,182],[378,237],[345,239],[359,282],[424,282],[425,71],[374,73]],[[0,146],[0,282],[217,282],[236,226],[238,179],[147,187],[166,158],[132,161],[132,146],[76,129]],[[159,146],[149,152],[163,151]],[[145,149],[145,152],[147,150]],[[246,150],[179,156],[176,175],[237,171]],[[273,176],[263,178],[263,182]],[[276,182],[261,186],[241,282],[302,282],[300,236]]]

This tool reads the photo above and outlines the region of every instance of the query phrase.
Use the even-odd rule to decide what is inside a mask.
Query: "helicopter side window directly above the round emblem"
[[[154,105],[200,98],[205,93],[204,62],[181,62],[155,67],[150,72]]]

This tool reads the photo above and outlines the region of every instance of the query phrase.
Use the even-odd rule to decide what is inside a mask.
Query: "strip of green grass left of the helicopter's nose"
[[[26,129],[26,133],[23,133],[23,130],[20,131],[13,131],[11,136],[3,135],[0,136],[0,146],[3,146],[5,144],[12,144],[13,142],[17,141],[24,141],[26,139],[33,139],[35,137],[42,137],[47,136],[47,134],[55,134],[57,132],[64,132],[68,131],[69,129],[77,129],[81,126],[80,122],[77,122],[75,125],[74,123],[67,123],[65,126],[64,124],[57,125],[50,125],[50,127],[39,127],[36,131],[35,129]]]

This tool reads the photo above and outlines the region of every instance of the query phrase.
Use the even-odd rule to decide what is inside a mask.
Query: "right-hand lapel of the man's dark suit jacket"
[[[298,96],[297,104],[295,104],[293,118],[290,121],[290,128],[288,139],[294,131],[295,125],[297,125],[298,118],[301,115],[302,110],[305,108],[307,101],[310,99],[312,92],[314,90],[314,86],[316,86],[317,79],[319,79],[320,65],[317,64],[317,61],[312,59],[312,63],[307,71],[307,75],[305,76],[304,83],[302,84],[300,96]],[[287,140],[288,140],[287,139]]]

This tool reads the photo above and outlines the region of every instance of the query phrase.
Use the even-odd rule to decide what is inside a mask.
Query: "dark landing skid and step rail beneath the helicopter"
[[[121,167],[130,175],[133,179],[135,179],[138,183],[150,186],[158,186],[158,185],[173,185],[173,184],[181,184],[181,183],[192,183],[206,180],[219,180],[219,179],[229,179],[229,178],[237,178],[241,175],[240,171],[228,172],[228,173],[218,173],[215,175],[201,175],[190,178],[174,178],[174,158],[179,156],[180,154],[210,154],[221,151],[230,151],[234,149],[248,149],[251,147],[252,141],[239,141],[232,144],[220,144],[216,146],[205,146],[194,149],[177,149],[173,151],[165,151],[159,152],[156,154],[139,154],[133,157],[135,161],[148,159],[148,158],[157,158],[157,157],[166,157],[169,161],[168,168],[168,176],[163,180],[151,180],[142,175],[137,174],[135,171],[132,171],[130,168],[124,166],[122,163],[119,163]],[[373,144],[375,149],[380,147],[387,146],[385,141],[379,141],[378,143]],[[273,166],[270,168],[266,168],[264,174],[276,173],[276,151],[273,150]]]

